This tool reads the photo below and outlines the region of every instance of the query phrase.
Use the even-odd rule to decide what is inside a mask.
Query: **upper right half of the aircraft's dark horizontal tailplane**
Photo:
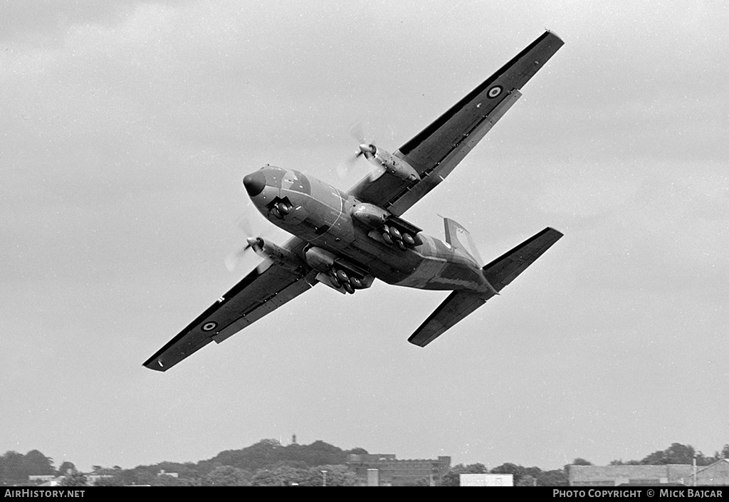
[[[534,263],[543,252],[548,250],[552,244],[562,236],[561,232],[554,228],[545,228],[537,235],[526,239],[517,247],[496,260],[483,267],[483,276],[489,284],[494,286],[496,291],[501,291],[504,286],[509,285],[512,280],[521,274],[526,267]]]

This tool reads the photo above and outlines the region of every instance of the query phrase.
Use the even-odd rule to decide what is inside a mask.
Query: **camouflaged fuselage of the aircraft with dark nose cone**
[[[264,166],[246,176],[243,184],[258,211],[271,223],[308,242],[309,247],[351,261],[374,278],[428,290],[491,290],[482,264],[465,252],[423,232],[407,247],[388,244],[378,223],[354,216],[362,201],[319,179]],[[375,210],[386,214],[381,208]]]

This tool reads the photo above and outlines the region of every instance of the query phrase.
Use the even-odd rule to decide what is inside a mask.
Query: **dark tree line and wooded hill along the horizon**
[[[198,463],[161,462],[152,466],[136,466],[123,469],[93,466],[90,474],[104,476],[96,484],[106,486],[126,486],[130,484],[150,484],[152,486],[354,486],[358,480],[348,466],[348,455],[367,454],[367,450],[354,448],[343,450],[324,441],[314,441],[309,445],[289,444],[282,446],[276,439],[262,439],[243,449],[230,449],[220,452],[208,460]],[[694,458],[698,466],[729,458],[729,444],[721,452],[704,455],[690,444],[671,444],[664,450],[647,455],[641,460],[612,460],[610,465],[663,465],[691,464]],[[570,464],[568,464],[570,465]],[[590,461],[576,458],[571,465],[591,466]],[[512,474],[516,486],[566,486],[567,466],[562,469],[542,471],[539,467],[524,467],[514,463],[504,463],[490,471],[481,463],[453,466],[440,479],[441,486],[458,486],[460,474]],[[323,471],[327,471],[326,474]],[[170,474],[176,474],[171,476]],[[31,484],[28,476],[65,475],[64,484],[79,486],[87,483],[73,463],[63,462],[58,469],[53,459],[46,457],[37,449],[23,455],[18,452],[5,452],[0,456],[0,485]],[[429,479],[421,479],[418,484],[427,485]]]

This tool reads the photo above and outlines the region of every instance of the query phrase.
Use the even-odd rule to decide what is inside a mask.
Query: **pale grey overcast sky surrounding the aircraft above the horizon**
[[[0,4],[0,454],[88,469],[292,434],[559,468],[729,443],[722,1]],[[491,260],[565,236],[425,349],[447,293],[319,286],[166,373],[141,366],[255,265],[265,163],[348,189],[523,47],[565,45],[405,214]],[[341,169],[340,169],[341,171]]]

